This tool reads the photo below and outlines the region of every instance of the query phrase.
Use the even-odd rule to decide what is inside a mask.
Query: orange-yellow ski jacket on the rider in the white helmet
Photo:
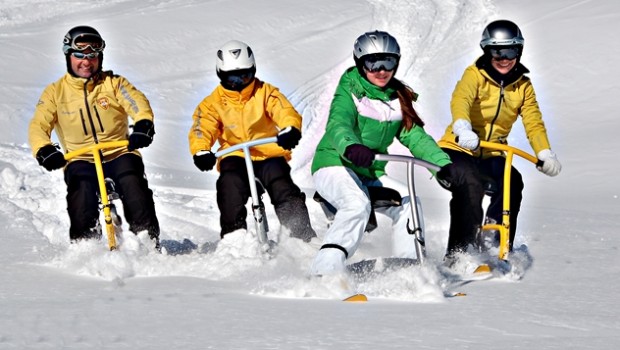
[[[205,97],[193,115],[189,131],[189,151],[209,151],[216,141],[219,150],[243,142],[276,136],[279,130],[295,127],[301,131],[301,115],[278,88],[254,79],[241,91],[227,90],[218,85]],[[252,160],[273,157],[291,158],[291,152],[275,143],[250,149]],[[224,157],[243,157],[239,150]]]

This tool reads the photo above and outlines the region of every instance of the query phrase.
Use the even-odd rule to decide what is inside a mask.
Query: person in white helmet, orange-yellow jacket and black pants
[[[232,40],[217,52],[216,69],[220,84],[205,97],[193,114],[189,148],[194,164],[209,171],[216,164],[211,147],[219,150],[251,140],[277,136],[269,143],[250,149],[254,174],[269,194],[280,224],[291,237],[309,242],[316,233],[310,224],[305,194],[291,178],[288,161],[301,138],[301,115],[273,85],[255,77],[252,49]],[[232,152],[218,163],[216,183],[220,209],[220,236],[247,229],[246,203],[250,185],[243,151]]]

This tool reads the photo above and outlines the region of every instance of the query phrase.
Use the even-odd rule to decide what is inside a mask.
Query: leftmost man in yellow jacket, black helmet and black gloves
[[[102,151],[103,170],[114,181],[129,228],[147,231],[159,248],[159,222],[153,193],[136,149],[155,134],[149,101],[127,79],[103,71],[105,41],[89,26],[70,29],[63,38],[67,73],[43,91],[29,126],[33,155],[48,171],[64,167],[71,241],[99,238],[99,186],[93,156],[67,163],[52,143],[54,131],[62,149],[73,152],[92,144],[128,140],[128,147]],[[129,134],[128,118],[134,122]]]

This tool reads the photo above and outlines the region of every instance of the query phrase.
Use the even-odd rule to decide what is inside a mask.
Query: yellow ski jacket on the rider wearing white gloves
[[[527,69],[521,66],[527,73]],[[476,152],[459,147],[452,133],[452,124],[458,119],[471,123],[480,140],[507,144],[512,125],[521,115],[523,126],[532,149],[538,152],[550,148],[542,113],[536,101],[536,94],[530,79],[524,75],[515,82],[502,87],[484,69],[473,64],[457,82],[450,102],[452,123],[437,142],[439,146],[458,150],[471,155]],[[500,151],[482,150],[482,156],[500,155]]]

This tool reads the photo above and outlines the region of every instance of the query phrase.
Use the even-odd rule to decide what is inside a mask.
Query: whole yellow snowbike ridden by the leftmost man
[[[67,161],[86,153],[91,153],[93,155],[95,170],[97,173],[97,181],[99,183],[99,201],[101,208],[103,209],[106,237],[108,239],[108,247],[110,250],[115,250],[117,247],[116,235],[120,233],[122,219],[116,212],[116,206],[114,205],[114,200],[119,199],[118,194],[114,190],[114,181],[112,181],[112,179],[105,178],[103,173],[101,151],[110,148],[126,147],[128,144],[129,142],[127,140],[102,142],[65,154],[65,159]],[[101,226],[97,223],[97,230],[100,229]]]

